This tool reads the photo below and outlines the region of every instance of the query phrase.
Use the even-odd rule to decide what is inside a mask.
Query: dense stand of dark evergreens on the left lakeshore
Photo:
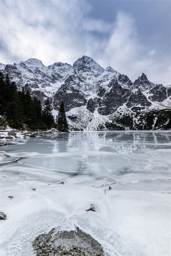
[[[0,115],[6,117],[9,126],[22,128],[23,123],[29,129],[47,129],[54,126],[51,104],[45,102],[42,112],[41,102],[36,96],[31,96],[24,88],[18,91],[16,83],[10,83],[8,74],[4,78],[0,72]],[[44,120],[44,122],[43,122]]]

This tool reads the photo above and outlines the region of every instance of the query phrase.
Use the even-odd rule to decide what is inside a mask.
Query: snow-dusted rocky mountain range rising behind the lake
[[[62,62],[45,66],[31,58],[0,64],[0,71],[42,104],[50,97],[54,114],[63,100],[71,130],[171,128],[171,87],[150,82],[144,73],[132,82],[87,56],[73,66]]]

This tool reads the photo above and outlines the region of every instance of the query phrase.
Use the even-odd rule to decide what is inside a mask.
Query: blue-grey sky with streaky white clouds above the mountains
[[[132,81],[171,84],[170,0],[0,0],[0,62],[83,55]]]

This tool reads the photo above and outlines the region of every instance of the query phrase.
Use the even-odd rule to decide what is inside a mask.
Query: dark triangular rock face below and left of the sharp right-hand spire
[[[141,107],[149,107],[151,103],[148,101],[145,95],[142,94],[141,90],[138,89],[135,93],[131,94],[126,105],[127,107],[133,107],[136,105],[141,105]]]

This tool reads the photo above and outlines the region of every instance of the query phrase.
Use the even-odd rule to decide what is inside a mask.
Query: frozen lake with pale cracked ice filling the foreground
[[[1,256],[34,255],[37,235],[75,226],[106,255],[170,255],[171,131],[72,132],[18,142],[0,147],[0,211],[7,215]],[[85,211],[91,203],[96,212]]]

